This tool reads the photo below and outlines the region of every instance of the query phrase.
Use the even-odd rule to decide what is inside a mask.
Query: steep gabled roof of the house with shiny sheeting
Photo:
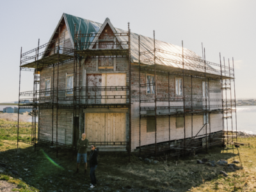
[[[67,13],[63,13],[60,22],[62,19],[65,19],[65,23],[67,25],[68,28],[68,33],[70,35],[70,39],[72,42],[72,45],[74,45],[74,24],[76,24],[76,31],[80,31],[82,34],[88,34],[88,33],[101,33],[102,29],[104,28],[104,26],[106,26],[106,24],[109,24],[109,26],[111,27],[111,29],[113,30],[114,33],[127,33],[127,31],[123,30],[123,29],[118,29],[118,28],[114,28],[113,25],[111,24],[110,20],[107,18],[104,22],[104,24],[100,24],[99,22],[94,22],[92,20],[88,20],[88,19],[83,19],[81,17],[76,17],[74,15],[68,15]],[[60,22],[58,23],[56,29],[54,30],[54,33],[51,36],[50,41],[52,40],[56,30],[58,29],[58,26],[60,25]],[[132,62],[138,63],[139,62],[139,52],[138,52],[138,37],[139,35],[136,33],[132,33],[131,32],[131,60]],[[97,38],[99,38],[97,36]],[[91,36],[91,38],[86,38],[83,37],[81,38],[81,42],[96,42],[97,38],[95,38],[94,36]],[[127,36],[116,36],[116,38],[119,41],[128,41],[128,37]],[[128,49],[128,45],[122,45],[123,49]],[[92,49],[92,45],[90,47],[86,47],[84,46],[83,49]],[[144,51],[152,51],[154,49],[154,39],[147,37],[147,36],[143,36],[140,35],[140,51],[144,52]],[[156,57],[157,58],[167,58],[167,60],[157,60],[157,64],[159,65],[165,65],[165,66],[170,66],[170,67],[177,67],[177,68],[181,68],[179,62],[182,62],[182,57],[180,57],[180,54],[182,54],[182,47],[177,46],[177,45],[173,45],[173,44],[169,44],[167,42],[162,42],[160,40],[156,40],[156,49],[161,49],[164,51],[168,51],[168,52],[172,52],[174,54],[167,54],[164,52],[156,52]],[[184,63],[188,63],[191,65],[184,65],[184,68],[188,69],[188,70],[195,70],[195,71],[199,71],[199,72],[204,72],[204,62],[200,61],[200,59],[202,60],[202,58],[200,56],[198,56],[198,54],[196,54],[195,52],[184,48]],[[179,55],[179,56],[175,56],[175,54]],[[191,58],[197,58],[199,59],[199,61],[196,60],[189,60],[186,58],[186,56],[191,57]],[[153,64],[152,59],[154,59],[154,54],[151,52],[149,54],[145,54],[144,56],[141,56],[140,60],[141,63],[145,63],[145,64]],[[151,61],[145,61],[142,62],[142,60],[151,60]],[[173,60],[173,62],[172,62]],[[178,62],[177,62],[178,61]],[[199,67],[196,67],[199,66]],[[208,64],[206,64],[206,67],[211,69],[212,67]],[[206,72],[209,72],[211,74],[216,74],[216,75],[220,75],[220,72],[214,71],[214,70],[206,70]]]

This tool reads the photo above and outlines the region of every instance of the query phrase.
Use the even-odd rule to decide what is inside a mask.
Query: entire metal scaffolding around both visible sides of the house
[[[60,28],[58,28],[58,34],[60,34]],[[46,143],[56,148],[56,157],[58,157],[58,151],[61,148],[70,148],[76,151],[76,143],[72,145],[65,145],[58,141],[58,111],[60,109],[70,109],[73,110],[72,118],[76,117],[80,119],[81,110],[85,108],[129,108],[129,141],[118,141],[118,142],[103,142],[103,141],[92,141],[91,143],[99,145],[113,145],[113,146],[125,146],[127,151],[131,154],[131,30],[128,24],[128,31],[123,33],[104,33],[105,36],[116,36],[122,37],[122,41],[115,41],[111,43],[113,48],[111,49],[99,49],[99,42],[91,41],[91,38],[96,38],[102,34],[90,33],[83,34],[82,31],[77,31],[76,24],[74,26],[74,47],[67,48],[60,46],[60,42],[63,41],[62,37],[57,37],[47,42],[47,44],[39,45],[38,47],[32,49],[31,51],[22,53],[20,51],[20,76],[22,71],[34,72],[34,82],[33,91],[20,92],[20,76],[19,76],[19,111],[20,109],[33,109],[32,110],[32,129],[31,129],[31,140],[24,140],[19,136],[19,111],[18,111],[18,128],[17,128],[17,148],[19,148],[19,142],[30,143],[35,146],[38,143],[39,129],[36,124],[36,119],[40,119],[40,109],[51,109],[51,141],[40,139],[40,142]],[[82,42],[82,38],[89,39],[87,42]],[[57,46],[56,46],[57,45]],[[117,49],[116,47],[125,45],[125,49]],[[85,49],[84,49],[85,47]],[[235,76],[234,76],[234,60],[233,67],[230,67],[228,60],[228,67],[221,64],[212,63],[205,60],[205,49],[203,51],[203,58],[196,58],[189,56],[184,52],[183,41],[182,50],[180,53],[170,52],[167,50],[159,49],[156,45],[155,31],[154,31],[154,49],[150,51],[141,52],[141,41],[140,36],[138,36],[138,71],[139,71],[139,102],[140,102],[140,132],[139,132],[139,148],[140,154],[149,154],[157,156],[163,152],[170,152],[171,156],[179,156],[181,154],[188,154],[189,152],[195,152],[196,150],[207,148],[213,145],[223,144],[234,144],[237,142],[237,124],[236,131],[233,129],[233,116],[232,113],[236,113],[236,90],[235,90]],[[160,53],[160,54],[159,54]],[[152,54],[153,58],[145,58],[147,54]],[[163,54],[175,56],[180,60],[173,60],[170,58],[164,58]],[[41,58],[39,58],[41,57]],[[129,85],[127,86],[81,86],[81,65],[82,61],[86,58],[113,58],[125,57],[129,61]],[[141,60],[141,57],[143,58]],[[60,67],[67,62],[73,62],[73,84],[72,88],[60,88]],[[175,63],[178,67],[170,67],[168,65],[163,65],[163,62]],[[197,64],[196,64],[197,62]],[[198,62],[200,65],[198,65]],[[113,66],[98,66],[98,68],[115,68],[115,62]],[[40,72],[42,68],[52,68],[52,86],[51,88],[40,89]],[[219,69],[220,67],[220,69]],[[194,68],[196,70],[193,70]],[[154,81],[141,83],[141,72],[151,72],[154,75]],[[157,74],[168,76],[168,97],[159,97],[157,93]],[[170,76],[177,75],[182,78],[182,94],[180,97],[171,97],[170,90]],[[185,78],[191,79],[189,84],[185,84]],[[198,99],[193,97],[193,82],[195,79],[202,79],[204,81],[204,93],[205,98]],[[54,81],[56,81],[54,84]],[[221,84],[221,99],[210,98],[210,86],[209,83],[217,82]],[[232,83],[233,82],[233,83]],[[234,86],[234,99],[232,99],[232,84]],[[38,87],[39,85],[39,87]],[[141,99],[141,88],[147,86],[153,86],[155,88],[154,97],[142,98]],[[189,90],[189,86],[191,89]],[[166,87],[167,88],[167,87]],[[97,95],[97,92],[126,92],[125,95],[113,94],[113,95]],[[230,91],[230,96],[227,93]],[[191,93],[189,93],[191,92]],[[225,95],[225,99],[224,98]],[[27,97],[27,98],[24,98]],[[230,97],[230,99],[228,99]],[[97,101],[106,99],[109,102],[99,103]],[[124,99],[124,103],[115,103],[111,100]],[[158,102],[165,103],[159,106]],[[182,103],[182,105],[177,105],[177,103]],[[217,102],[217,104],[216,104]],[[141,104],[154,103],[154,107],[145,106]],[[159,110],[165,110],[164,113],[159,113]],[[39,113],[38,113],[39,111]],[[154,111],[154,113],[147,113],[148,111]],[[56,122],[54,124],[54,113],[56,115]],[[222,114],[223,130],[221,131],[222,137],[216,138],[211,132],[211,114]],[[196,115],[205,115],[205,124],[202,126],[200,131],[193,131],[193,118]],[[186,136],[186,117],[191,116],[191,136]],[[171,140],[170,132],[170,118],[179,117],[183,118],[184,124],[184,138],[180,140]],[[207,118],[208,117],[208,118]],[[157,143],[157,119],[168,118],[168,138],[169,140],[164,143]],[[232,124],[228,125],[228,118],[231,119]],[[143,145],[141,146],[141,120],[154,120],[154,144],[153,145]],[[235,116],[236,119],[236,116]],[[208,122],[207,122],[208,121]],[[225,129],[225,121],[227,127]],[[80,121],[79,121],[80,122]],[[73,127],[81,127],[81,124],[73,120]],[[54,126],[56,127],[56,138],[54,138]],[[207,132],[207,126],[209,126],[209,132]],[[228,129],[228,126],[231,129]],[[205,134],[202,134],[202,130],[205,129]],[[80,130],[80,128],[79,128]],[[231,130],[231,131],[230,131]],[[228,131],[232,134],[228,134]],[[36,132],[38,134],[36,134]],[[227,134],[225,134],[227,132]],[[78,134],[76,132],[76,134]],[[76,134],[73,135],[73,141],[76,138]],[[236,137],[236,142],[234,142],[234,137]],[[231,138],[231,140],[230,140]],[[202,146],[202,141],[205,140],[205,147]],[[208,142],[209,141],[209,142]],[[178,144],[177,144],[178,143]],[[160,145],[160,147],[158,147]]]

